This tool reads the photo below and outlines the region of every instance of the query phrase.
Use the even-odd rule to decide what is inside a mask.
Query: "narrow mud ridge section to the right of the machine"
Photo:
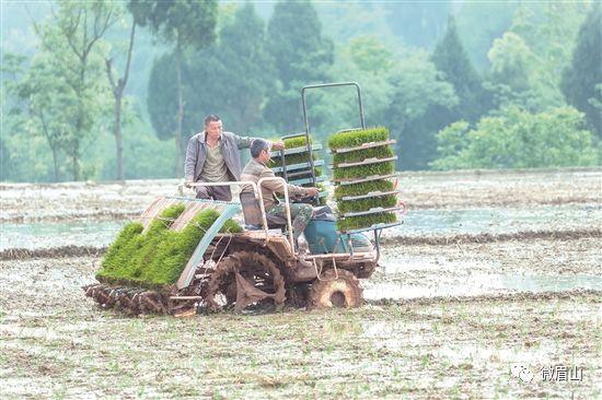
[[[495,243],[511,240],[576,240],[582,238],[602,238],[602,230],[568,230],[568,231],[524,231],[506,234],[459,234],[453,236],[384,236],[383,246],[447,246],[466,243]]]

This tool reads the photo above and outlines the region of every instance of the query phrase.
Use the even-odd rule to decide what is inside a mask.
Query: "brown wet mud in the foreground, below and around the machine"
[[[127,318],[99,259],[0,262],[2,398],[576,398],[602,395],[600,291],[369,301],[356,309]],[[378,279],[375,279],[378,280]],[[522,365],[530,381],[512,376]],[[577,366],[580,381],[540,370]]]

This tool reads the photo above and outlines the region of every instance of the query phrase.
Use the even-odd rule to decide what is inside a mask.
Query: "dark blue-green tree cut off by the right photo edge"
[[[586,113],[599,139],[602,139],[602,111],[595,107],[594,101],[602,99],[595,89],[602,83],[601,26],[601,5],[595,3],[579,30],[571,63],[563,72],[560,84],[567,102]]]

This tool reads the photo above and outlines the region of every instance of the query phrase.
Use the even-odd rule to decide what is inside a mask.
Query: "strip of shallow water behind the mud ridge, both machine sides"
[[[128,220],[4,223],[0,251],[8,248],[108,246]],[[505,234],[541,230],[580,230],[602,226],[601,205],[541,205],[464,210],[413,210],[404,224],[386,230],[393,236]]]

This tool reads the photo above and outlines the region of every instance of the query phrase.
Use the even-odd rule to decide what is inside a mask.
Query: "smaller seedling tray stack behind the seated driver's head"
[[[319,203],[325,204],[327,191],[325,187],[326,179],[322,170],[324,160],[317,157],[317,152],[322,150],[322,145],[319,143],[314,144],[310,140],[312,150],[310,158],[310,149],[304,133],[285,138],[282,141],[286,149],[283,151],[271,152],[271,161],[268,167],[274,170],[276,176],[285,178],[289,184],[302,187],[317,187],[320,189]]]

